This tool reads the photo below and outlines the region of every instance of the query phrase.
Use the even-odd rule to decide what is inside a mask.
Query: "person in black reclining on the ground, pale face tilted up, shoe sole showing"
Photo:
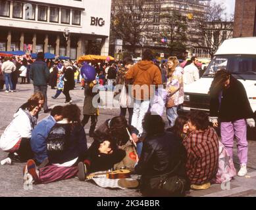
[[[119,163],[126,156],[126,152],[118,149],[115,140],[104,131],[97,129],[93,138],[84,162],[78,163],[79,180],[85,180],[88,173],[112,169],[115,163]]]

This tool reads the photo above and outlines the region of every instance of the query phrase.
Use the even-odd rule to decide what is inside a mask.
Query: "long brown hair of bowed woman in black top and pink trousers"
[[[220,91],[224,88],[224,83],[230,79],[230,73],[225,69],[218,70],[215,74],[213,82],[211,83],[211,87],[209,90],[209,94],[211,96],[216,96]]]

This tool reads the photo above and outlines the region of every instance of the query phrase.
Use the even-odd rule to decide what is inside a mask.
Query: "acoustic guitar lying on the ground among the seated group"
[[[130,171],[127,169],[120,169],[105,173],[91,173],[90,175],[86,176],[86,179],[90,180],[96,177],[107,177],[107,179],[126,179],[130,178]]]

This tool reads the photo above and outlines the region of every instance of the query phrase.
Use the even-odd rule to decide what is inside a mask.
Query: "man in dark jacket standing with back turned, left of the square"
[[[51,112],[51,109],[47,105],[47,83],[49,81],[50,71],[46,62],[43,60],[44,56],[42,52],[38,53],[38,58],[30,68],[30,79],[33,80],[34,93],[41,91],[45,96],[43,111],[47,113]]]

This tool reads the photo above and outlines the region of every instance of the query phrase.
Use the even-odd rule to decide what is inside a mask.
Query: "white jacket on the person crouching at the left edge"
[[[32,127],[26,113],[19,109],[14,119],[5,129],[0,138],[0,148],[3,151],[11,150],[20,138],[31,138]]]

